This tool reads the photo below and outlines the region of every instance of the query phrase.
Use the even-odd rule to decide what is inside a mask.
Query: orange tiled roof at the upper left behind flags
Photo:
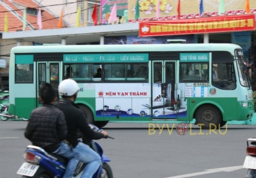
[[[7,7],[4,7],[4,5],[0,4],[0,31],[4,31],[4,19],[5,19],[5,13],[8,15],[8,31],[20,31],[23,29],[23,9],[17,8],[14,3],[23,5],[24,7],[29,8],[37,8],[38,4],[36,4],[33,0],[13,0],[13,2],[10,2],[8,0],[2,0],[2,2],[7,5]],[[12,11],[8,9],[10,7]],[[50,14],[48,11],[42,10],[42,29],[53,29],[58,28],[59,25],[59,18],[56,18],[52,14]],[[27,13],[27,23],[31,24],[33,26],[34,30],[39,30],[39,26],[37,25],[37,16],[28,14]],[[63,24],[63,26],[66,26]],[[28,25],[26,27],[26,31],[30,30],[28,28]]]

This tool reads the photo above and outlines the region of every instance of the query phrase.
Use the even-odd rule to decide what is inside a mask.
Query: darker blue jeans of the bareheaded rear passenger
[[[72,151],[71,147],[64,142],[62,142],[62,144],[60,144],[60,147],[57,148],[57,150],[55,150],[53,153],[69,159],[68,165],[66,166],[65,174],[62,178],[73,177],[75,168],[77,167],[80,159],[79,154],[77,154],[75,151]]]

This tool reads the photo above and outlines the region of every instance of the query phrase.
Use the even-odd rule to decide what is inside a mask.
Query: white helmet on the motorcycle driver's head
[[[59,95],[71,97],[76,92],[78,92],[80,87],[77,82],[72,79],[66,79],[59,84]]]

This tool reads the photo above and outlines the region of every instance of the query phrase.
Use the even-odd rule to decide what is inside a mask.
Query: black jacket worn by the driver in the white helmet
[[[88,125],[85,113],[79,109],[77,104],[70,100],[61,99],[55,104],[65,115],[66,125],[68,126],[68,142],[73,148],[78,144],[77,132],[80,130],[86,139],[101,139],[104,135],[100,132],[94,132]]]

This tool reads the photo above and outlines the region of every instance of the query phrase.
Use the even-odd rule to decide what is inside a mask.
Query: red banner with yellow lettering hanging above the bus
[[[167,36],[252,30],[255,30],[254,14],[139,22],[139,36]]]

